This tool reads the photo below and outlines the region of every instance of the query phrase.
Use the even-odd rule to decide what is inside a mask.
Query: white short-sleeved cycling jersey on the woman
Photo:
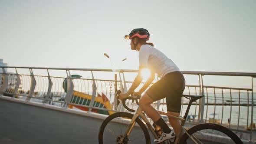
[[[142,45],[139,50],[139,66],[148,67],[161,79],[170,72],[180,71],[171,59],[151,45]]]

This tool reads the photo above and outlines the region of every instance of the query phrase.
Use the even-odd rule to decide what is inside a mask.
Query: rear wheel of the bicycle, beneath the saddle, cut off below
[[[198,124],[187,131],[197,143],[202,144],[243,144],[239,137],[219,124]],[[179,144],[194,144],[187,134],[181,137]]]

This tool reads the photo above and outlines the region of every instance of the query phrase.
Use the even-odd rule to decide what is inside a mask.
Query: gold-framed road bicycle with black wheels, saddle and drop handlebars
[[[119,91],[118,93],[121,93],[121,91]],[[191,140],[195,144],[203,144],[209,142],[223,144],[243,144],[240,138],[236,136],[233,131],[230,131],[229,129],[218,124],[204,123],[195,125],[188,130],[184,128],[192,102],[196,101],[197,99],[203,98],[204,95],[182,96],[190,100],[184,118],[170,115],[163,111],[157,110],[162,115],[166,115],[171,118],[177,118],[181,121],[181,128],[176,135],[174,144],[186,144],[186,142],[191,142]],[[128,111],[134,112],[134,114],[128,112],[116,112],[108,116],[103,121],[98,133],[99,144],[150,144],[151,140],[148,131],[151,131],[151,133],[154,135],[154,138],[157,139],[159,137],[160,134],[158,134],[158,131],[154,130],[151,122],[148,120],[144,112],[141,111],[141,108],[138,105],[139,98],[140,96],[129,96],[122,101],[123,106]],[[127,105],[125,104],[125,101],[127,99],[136,101],[138,105],[136,111],[127,107]],[[144,122],[141,121],[141,119]],[[125,127],[123,127],[123,125],[125,125]],[[147,125],[148,128],[146,128],[145,125]],[[116,133],[114,131],[115,128],[117,128],[117,130],[121,132]],[[181,131],[185,132],[182,136]],[[108,134],[108,132],[110,134]],[[113,134],[115,137],[112,136]],[[162,142],[161,144],[165,144],[165,142],[166,141]],[[170,141],[167,140],[167,143],[168,142]]]

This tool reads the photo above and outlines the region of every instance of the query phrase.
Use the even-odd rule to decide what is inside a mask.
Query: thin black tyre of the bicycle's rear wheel
[[[240,140],[240,138],[239,138],[235,133],[233,133],[233,131],[231,131],[231,130],[229,130],[228,128],[225,128],[225,127],[223,127],[223,126],[221,126],[221,125],[219,125],[219,124],[211,124],[211,123],[198,124],[198,125],[196,125],[196,126],[190,128],[190,129],[187,131],[187,133],[190,134],[190,135],[192,135],[192,134],[195,134],[196,132],[199,132],[199,131],[201,131],[201,130],[207,130],[207,129],[208,129],[208,130],[215,130],[215,131],[221,132],[221,133],[223,133],[223,134],[226,134],[225,137],[224,137],[224,136],[223,136],[223,137],[220,137],[220,136],[217,137],[217,136],[218,136],[218,135],[217,135],[218,133],[213,134],[214,137],[215,137],[215,140],[216,140],[216,141],[213,141],[215,144],[220,141],[220,138],[225,139],[225,140],[228,141],[228,142],[224,142],[225,144],[229,144],[229,143],[230,143],[230,140],[233,141],[233,142],[231,142],[232,144],[243,144],[243,142]],[[200,132],[200,134],[202,135],[202,132]],[[199,135],[200,135],[200,134],[199,134]],[[210,138],[210,135],[209,135],[209,134],[203,134],[203,135],[206,135],[206,137],[207,137],[207,139],[205,139],[205,140],[207,140],[207,141],[211,140],[211,141],[212,141],[212,138]],[[208,135],[209,135],[209,137],[208,137]],[[230,139],[228,139],[228,137],[229,137]],[[198,138],[198,137],[197,137],[197,138]],[[217,138],[217,139],[216,139],[216,138]],[[184,134],[184,135],[181,137],[181,140],[180,140],[179,144],[186,144],[187,139],[188,139],[188,135],[187,135],[187,134]],[[202,139],[202,137],[201,137],[200,139]],[[207,143],[209,143],[209,142],[207,142]]]

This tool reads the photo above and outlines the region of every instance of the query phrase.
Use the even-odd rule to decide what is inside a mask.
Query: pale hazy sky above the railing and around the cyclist
[[[256,72],[255,13],[255,0],[0,0],[0,59],[138,69],[124,35],[142,27],[181,71]]]

